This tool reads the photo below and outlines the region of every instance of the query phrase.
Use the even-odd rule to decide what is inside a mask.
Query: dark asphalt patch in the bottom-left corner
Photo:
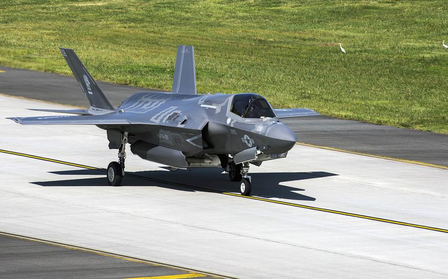
[[[0,232],[0,276],[19,278],[216,278],[176,267]]]

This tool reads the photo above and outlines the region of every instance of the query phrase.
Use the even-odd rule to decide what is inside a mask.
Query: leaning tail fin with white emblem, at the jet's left
[[[104,92],[99,88],[98,84],[96,84],[96,81],[92,78],[89,71],[87,71],[81,60],[79,60],[78,56],[76,56],[75,52],[72,49],[60,48],[60,50],[73,72],[75,79],[78,81],[79,86],[86,93],[86,97],[91,106],[90,110],[96,113],[102,111],[115,112],[114,106],[107,99],[106,95],[104,95]]]

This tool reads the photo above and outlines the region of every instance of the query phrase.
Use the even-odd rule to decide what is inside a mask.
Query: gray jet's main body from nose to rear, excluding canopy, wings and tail
[[[115,128],[129,133],[131,148],[134,143],[143,146],[144,142],[197,157],[204,154],[234,155],[256,146],[266,154],[266,160],[286,156],[296,141],[295,134],[277,117],[244,118],[231,112],[234,96],[136,93],[123,101],[118,108],[119,113],[132,114],[129,115],[132,119],[141,119],[142,123],[150,125]],[[107,128],[111,130],[110,126]]]

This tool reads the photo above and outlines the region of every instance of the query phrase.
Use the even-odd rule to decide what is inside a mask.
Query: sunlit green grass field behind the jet
[[[189,44],[200,93],[448,134],[442,39],[446,0],[0,3],[1,65],[71,75],[68,47],[98,80],[170,89]]]

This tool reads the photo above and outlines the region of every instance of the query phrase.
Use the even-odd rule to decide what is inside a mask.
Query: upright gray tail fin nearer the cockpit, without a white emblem
[[[178,46],[173,93],[196,94],[196,70],[192,46]]]

